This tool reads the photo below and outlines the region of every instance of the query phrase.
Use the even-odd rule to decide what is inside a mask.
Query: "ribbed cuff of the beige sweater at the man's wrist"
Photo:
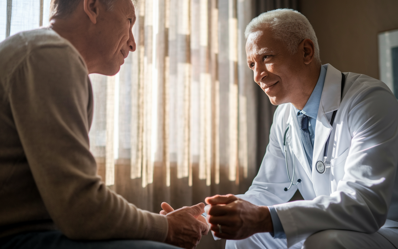
[[[166,216],[144,211],[146,229],[143,239],[164,242],[168,233],[169,223]]]

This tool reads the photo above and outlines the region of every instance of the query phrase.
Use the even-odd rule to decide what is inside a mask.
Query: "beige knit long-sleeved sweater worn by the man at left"
[[[60,229],[71,239],[164,241],[165,216],[140,210],[96,175],[86,64],[49,28],[0,43],[0,237]]]

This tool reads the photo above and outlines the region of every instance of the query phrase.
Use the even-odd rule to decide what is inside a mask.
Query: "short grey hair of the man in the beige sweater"
[[[50,20],[53,18],[65,18],[71,14],[82,0],[51,0]],[[108,11],[112,11],[113,4],[119,0],[99,0],[105,4]],[[137,6],[137,0],[131,0],[134,6]]]

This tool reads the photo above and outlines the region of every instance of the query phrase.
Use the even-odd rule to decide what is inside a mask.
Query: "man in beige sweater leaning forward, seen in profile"
[[[203,203],[140,210],[89,150],[88,74],[115,75],[135,51],[133,2],[52,0],[50,19],[0,43],[0,248],[194,248]]]

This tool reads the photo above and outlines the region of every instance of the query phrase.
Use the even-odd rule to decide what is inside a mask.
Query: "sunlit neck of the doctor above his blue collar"
[[[304,108],[312,94],[312,91],[314,91],[316,82],[318,82],[318,78],[321,73],[321,66],[322,65],[319,64],[312,67],[308,71],[307,75],[304,76],[303,84],[301,84],[303,87],[300,87],[296,94],[297,98],[291,102],[298,110],[302,110]]]

